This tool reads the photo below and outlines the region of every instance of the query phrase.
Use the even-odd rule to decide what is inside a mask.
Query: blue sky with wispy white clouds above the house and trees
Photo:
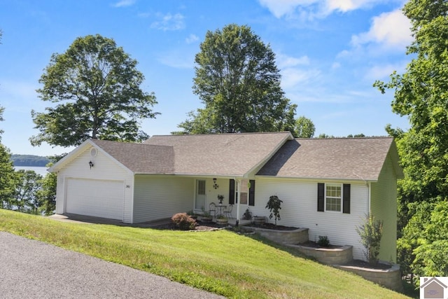
[[[194,57],[208,30],[248,25],[276,53],[283,91],[310,118],[316,134],[385,135],[384,127],[407,129],[391,111],[393,91],[381,95],[375,80],[402,73],[410,58],[409,21],[402,0],[1,0],[0,106],[6,110],[1,142],[12,153],[52,155],[72,148],[33,147],[38,134],[31,109],[38,79],[52,53],[64,53],[78,36],[101,34],[139,62],[155,92],[150,134],[179,130],[187,113],[202,108],[193,95]]]

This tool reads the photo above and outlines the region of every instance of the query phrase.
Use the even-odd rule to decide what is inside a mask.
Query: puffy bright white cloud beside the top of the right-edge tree
[[[386,48],[399,48],[400,50],[412,43],[411,24],[401,10],[381,13],[374,17],[368,32],[351,37],[352,46],[361,46],[366,43],[382,44]]]

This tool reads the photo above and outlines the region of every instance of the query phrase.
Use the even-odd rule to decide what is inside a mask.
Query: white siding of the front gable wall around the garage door
[[[56,213],[64,214],[69,212],[66,210],[67,197],[71,196],[68,193],[71,194],[76,191],[68,188],[69,180],[83,179],[89,181],[89,183],[79,187],[83,188],[82,192],[103,197],[106,197],[107,190],[105,188],[107,187],[102,182],[120,181],[121,190],[116,190],[123,197],[123,211],[119,220],[125,223],[132,223],[132,193],[134,185],[132,172],[120,165],[116,160],[110,158],[109,155],[102,153],[102,151],[98,151],[97,155],[92,158],[90,155],[91,149],[92,146],[87,146],[82,153],[57,173]],[[91,168],[89,165],[90,161],[94,163],[94,166]]]

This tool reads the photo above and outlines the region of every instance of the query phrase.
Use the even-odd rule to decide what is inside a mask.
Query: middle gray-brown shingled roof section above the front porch
[[[167,135],[144,144],[172,146],[176,174],[244,176],[291,138],[289,132]]]

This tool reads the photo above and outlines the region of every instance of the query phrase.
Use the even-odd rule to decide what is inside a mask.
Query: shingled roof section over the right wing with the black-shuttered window
[[[390,137],[294,139],[287,141],[257,175],[376,181],[392,145]],[[400,167],[396,171],[402,176]]]

